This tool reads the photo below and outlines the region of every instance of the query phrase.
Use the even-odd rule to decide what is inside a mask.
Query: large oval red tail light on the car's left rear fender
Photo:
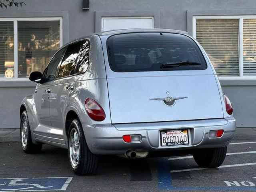
[[[90,118],[94,121],[103,121],[106,118],[106,114],[100,104],[91,98],[88,98],[84,102],[86,112]]]

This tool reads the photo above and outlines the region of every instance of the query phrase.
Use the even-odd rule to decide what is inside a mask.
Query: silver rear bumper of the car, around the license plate
[[[94,154],[124,154],[128,150],[169,151],[200,148],[224,147],[234,138],[236,120],[234,118],[193,120],[182,122],[152,122],[136,124],[82,124],[86,142]],[[186,146],[162,147],[160,130],[189,129],[190,144]],[[208,138],[210,130],[224,130],[220,138]],[[125,143],[123,135],[140,134],[139,143]]]

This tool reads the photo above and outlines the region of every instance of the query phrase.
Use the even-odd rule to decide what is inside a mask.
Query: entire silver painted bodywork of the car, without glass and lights
[[[133,31],[137,30],[126,30]],[[28,113],[33,142],[67,148],[65,122],[72,111],[78,115],[86,142],[95,154],[228,145],[234,136],[236,120],[226,113],[218,78],[199,44],[208,65],[206,70],[117,73],[109,67],[106,50],[106,39],[114,33],[120,31],[85,37],[90,41],[90,55],[84,74],[38,84],[37,92],[24,98],[22,104]],[[50,93],[45,92],[48,89]],[[180,100],[172,107],[149,100],[167,97]],[[87,115],[86,98],[92,98],[102,106],[106,114],[104,121],[96,122]],[[177,128],[189,128],[190,145],[161,147],[159,130]],[[209,139],[209,130],[216,129],[223,129],[224,135],[216,140]],[[142,141],[126,144],[122,140],[125,134],[141,134]],[[71,144],[74,151],[74,142]],[[74,153],[72,156],[76,162]]]

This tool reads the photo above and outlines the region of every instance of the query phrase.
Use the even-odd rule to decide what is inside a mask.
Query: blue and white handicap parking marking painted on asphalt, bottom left
[[[0,179],[0,192],[66,190],[72,177]]]

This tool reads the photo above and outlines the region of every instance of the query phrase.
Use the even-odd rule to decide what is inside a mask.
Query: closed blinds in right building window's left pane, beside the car
[[[196,40],[219,76],[239,76],[239,19],[197,19]]]

